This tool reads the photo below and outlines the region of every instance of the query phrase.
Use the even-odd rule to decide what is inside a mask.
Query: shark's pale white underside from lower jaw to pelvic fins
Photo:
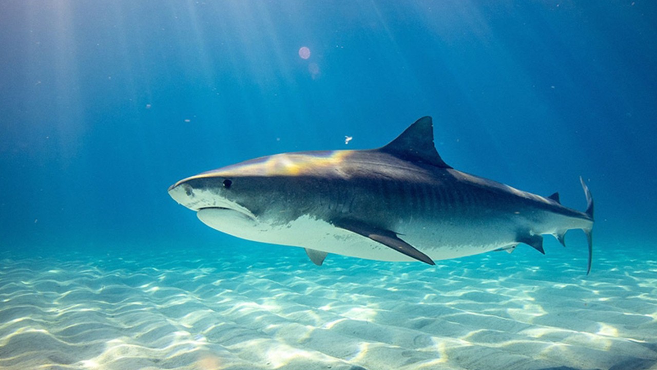
[[[201,209],[197,215],[206,225],[238,238],[380,261],[415,261],[369,238],[307,215],[277,226],[259,223],[231,209]],[[399,238],[434,260],[485,253],[516,244],[514,235],[505,230],[475,233],[458,225],[407,223],[400,224],[395,231]]]

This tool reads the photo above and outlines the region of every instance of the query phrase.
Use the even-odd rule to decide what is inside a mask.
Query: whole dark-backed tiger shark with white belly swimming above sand
[[[591,271],[593,198],[561,205],[447,165],[434,146],[431,117],[378,149],[304,151],[250,159],[185,178],[171,198],[221,232],[296,246],[321,265],[328,253],[380,261],[450,259],[513,251],[545,254],[543,235],[587,236]]]

